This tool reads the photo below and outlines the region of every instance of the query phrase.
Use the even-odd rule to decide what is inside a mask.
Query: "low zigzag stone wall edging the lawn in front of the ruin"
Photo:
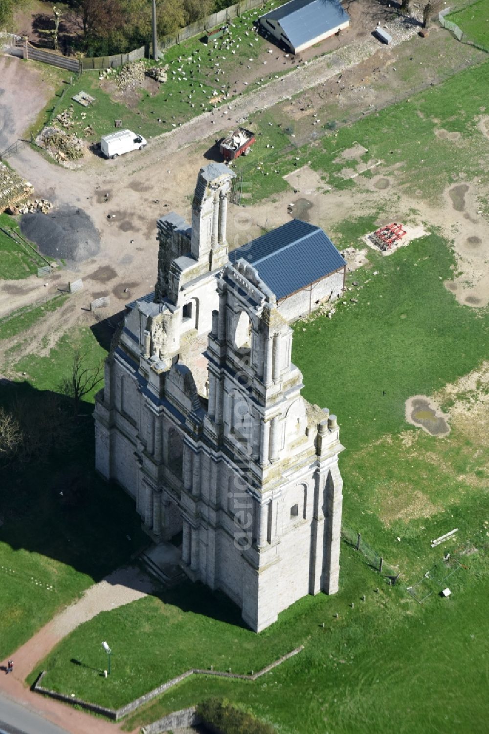
[[[139,698],[136,698],[134,701],[131,701],[130,703],[126,704],[125,706],[121,706],[121,708],[117,708],[117,709],[105,708],[104,706],[99,706],[96,703],[89,703],[87,701],[81,700],[80,698],[73,698],[71,696],[65,696],[65,694],[58,693],[57,691],[51,691],[49,688],[44,688],[43,686],[40,685],[40,683],[41,683],[41,680],[43,680],[43,677],[45,675],[45,670],[43,670],[43,672],[37,678],[32,690],[36,691],[36,693],[44,694],[45,696],[49,696],[50,698],[54,698],[58,701],[70,703],[73,706],[80,706],[80,708],[87,709],[87,711],[93,711],[94,713],[100,713],[102,716],[107,716],[108,719],[112,719],[113,721],[118,722],[120,719],[122,719],[123,716],[127,716],[128,713],[133,713],[133,711],[136,711],[136,708],[139,708],[139,706],[142,706],[144,703],[147,703],[148,701],[151,701],[153,698],[160,696],[165,691],[168,691],[169,688],[176,686],[177,683],[181,683],[182,680],[185,680],[185,678],[188,678],[191,675],[218,675],[220,677],[225,677],[225,678],[238,678],[239,680],[257,680],[257,678],[259,678],[261,675],[265,675],[265,673],[270,672],[271,670],[273,670],[273,668],[276,668],[276,666],[281,665],[289,658],[292,658],[294,655],[301,653],[301,650],[304,650],[304,645],[302,644],[300,645],[300,647],[295,647],[295,650],[291,650],[290,653],[287,653],[287,655],[282,655],[282,658],[279,658],[278,660],[273,661],[273,663],[271,663],[270,665],[267,665],[265,666],[265,668],[262,668],[261,670],[259,670],[256,673],[251,673],[250,675],[244,675],[240,673],[229,673],[229,672],[224,672],[221,670],[202,670],[199,668],[191,668],[190,670],[186,670],[185,673],[182,673],[181,675],[177,675],[177,677],[172,678],[172,680],[167,680],[166,683],[162,683],[162,685],[158,686],[158,688],[153,688],[152,691],[149,691],[147,694],[144,694],[144,696],[140,696]],[[177,713],[181,713],[181,712],[177,712]],[[161,721],[163,721],[163,719],[161,719]],[[158,722],[156,723],[158,724]],[[160,730],[155,730],[155,731],[164,731],[164,730],[160,729]]]

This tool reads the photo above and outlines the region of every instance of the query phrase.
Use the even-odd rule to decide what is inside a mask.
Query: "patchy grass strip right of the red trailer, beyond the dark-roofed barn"
[[[276,195],[287,189],[288,184],[282,177],[309,161],[310,167],[325,177],[325,183],[327,181],[335,189],[351,189],[355,183],[339,175],[343,168],[352,167],[351,161],[342,159],[341,152],[356,142],[367,148],[367,153],[353,161],[353,167],[375,160],[389,167],[400,164],[397,190],[424,197],[431,203],[438,200],[449,183],[458,180],[460,171],[469,181],[475,178],[488,181],[487,153],[484,152],[487,151],[487,138],[477,127],[481,110],[487,103],[488,85],[489,62],[486,62],[452,76],[438,87],[430,87],[408,100],[372,112],[334,134],[324,134],[320,141],[298,149],[286,132],[287,129],[293,131],[298,123],[287,120],[282,108],[255,115],[254,123],[260,137],[254,146],[253,159],[240,158],[235,168],[243,173],[247,187],[243,191],[251,192],[250,203]],[[467,89],[471,90],[470,95],[466,94]],[[282,147],[278,142],[275,148],[266,148],[270,145],[271,121],[275,126],[282,125]],[[435,131],[440,129],[460,134],[456,145],[438,137]]]

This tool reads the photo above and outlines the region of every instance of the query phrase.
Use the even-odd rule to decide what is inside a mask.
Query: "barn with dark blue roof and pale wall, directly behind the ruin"
[[[229,252],[236,264],[246,260],[273,291],[287,321],[334,300],[345,287],[346,262],[320,227],[292,219]]]

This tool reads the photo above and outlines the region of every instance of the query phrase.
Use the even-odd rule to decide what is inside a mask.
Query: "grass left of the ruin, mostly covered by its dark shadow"
[[[106,354],[89,330],[65,336],[49,357],[29,355],[18,363],[29,382],[2,386],[0,403],[49,400],[69,374],[76,347],[87,351],[94,365]],[[95,475],[92,404],[93,395],[87,396],[82,415],[67,424],[65,446],[29,464],[0,468],[0,658],[87,586],[127,562],[145,540],[133,503]],[[83,492],[67,504],[59,492],[79,472]],[[108,515],[114,517],[110,525]]]

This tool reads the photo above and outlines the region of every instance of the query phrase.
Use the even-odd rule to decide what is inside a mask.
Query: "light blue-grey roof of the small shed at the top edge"
[[[279,21],[294,48],[350,20],[338,0],[290,0],[262,18]]]

